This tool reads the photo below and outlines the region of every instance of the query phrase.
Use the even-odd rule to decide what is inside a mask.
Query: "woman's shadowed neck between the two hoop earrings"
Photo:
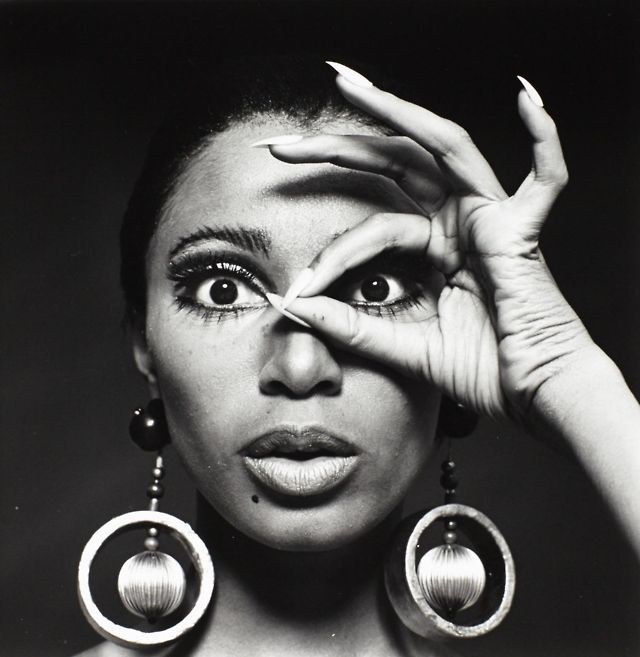
[[[240,534],[199,498],[216,593],[195,654],[401,654],[382,578],[398,518],[336,550],[287,552]]]

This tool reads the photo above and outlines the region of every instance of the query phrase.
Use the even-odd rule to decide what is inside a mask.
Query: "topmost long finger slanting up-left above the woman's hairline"
[[[349,102],[426,148],[457,191],[494,200],[506,197],[489,163],[459,125],[376,87],[355,85],[342,75],[336,83]]]

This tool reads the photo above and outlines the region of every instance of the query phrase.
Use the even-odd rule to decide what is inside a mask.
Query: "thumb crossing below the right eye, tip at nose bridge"
[[[297,298],[289,311],[348,351],[373,358],[410,376],[424,376],[425,322],[400,322],[367,315],[330,297]]]

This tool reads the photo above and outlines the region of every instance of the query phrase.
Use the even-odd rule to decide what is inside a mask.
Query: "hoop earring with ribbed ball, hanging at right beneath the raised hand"
[[[457,420],[455,409],[445,412],[449,417],[443,422],[441,415],[441,429],[454,427],[455,437],[473,430],[475,421],[468,412]],[[400,523],[385,565],[387,595],[396,614],[426,638],[472,638],[490,632],[509,612],[515,592],[513,557],[498,528],[477,509],[455,503],[458,480],[450,450],[449,444],[440,477],[445,503]],[[436,523],[444,525],[442,543],[427,549]],[[461,544],[461,538],[482,558]]]

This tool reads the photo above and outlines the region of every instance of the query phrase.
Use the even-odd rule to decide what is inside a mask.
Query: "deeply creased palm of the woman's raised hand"
[[[431,217],[431,251],[446,283],[421,362],[443,392],[483,414],[513,414],[512,406],[535,394],[548,362],[566,353],[564,338],[579,343],[586,336],[569,306],[558,308],[559,292],[538,250],[541,226],[542,218],[513,197],[450,194]],[[537,317],[546,325],[532,330]]]

